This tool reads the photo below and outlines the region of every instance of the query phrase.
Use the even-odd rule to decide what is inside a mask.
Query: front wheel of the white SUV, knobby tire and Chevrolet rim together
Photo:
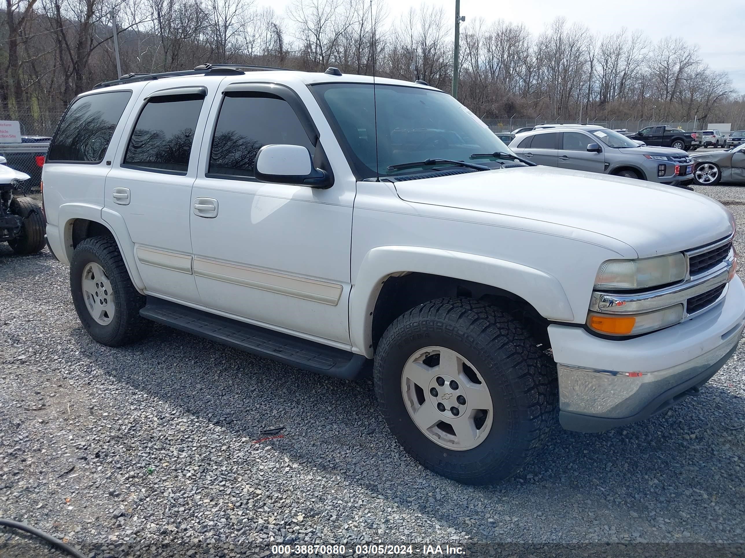
[[[555,420],[557,374],[519,321],[469,298],[400,316],[375,351],[375,392],[420,464],[464,484],[508,478]]]

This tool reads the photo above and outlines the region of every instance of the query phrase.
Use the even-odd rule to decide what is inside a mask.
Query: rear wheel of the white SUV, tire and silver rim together
[[[145,297],[132,284],[113,238],[86,238],[76,246],[70,290],[80,323],[95,341],[119,347],[148,332],[149,322],[139,315]]]

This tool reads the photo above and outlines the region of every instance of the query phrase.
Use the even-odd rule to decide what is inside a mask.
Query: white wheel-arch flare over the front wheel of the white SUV
[[[387,278],[402,272],[443,275],[495,286],[523,298],[549,320],[573,321],[574,313],[553,275],[493,257],[439,248],[379,246],[362,260],[349,297],[352,347],[373,357],[373,310]]]

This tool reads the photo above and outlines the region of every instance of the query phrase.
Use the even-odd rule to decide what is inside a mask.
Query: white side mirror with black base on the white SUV
[[[261,182],[276,182],[312,188],[329,188],[331,175],[313,166],[313,158],[302,145],[264,145],[256,155],[253,175]]]

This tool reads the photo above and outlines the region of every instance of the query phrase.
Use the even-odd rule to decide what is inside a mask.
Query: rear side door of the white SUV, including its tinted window
[[[145,291],[197,303],[191,275],[191,185],[209,100],[206,87],[153,83],[130,118],[106,179],[105,205],[123,217]]]

